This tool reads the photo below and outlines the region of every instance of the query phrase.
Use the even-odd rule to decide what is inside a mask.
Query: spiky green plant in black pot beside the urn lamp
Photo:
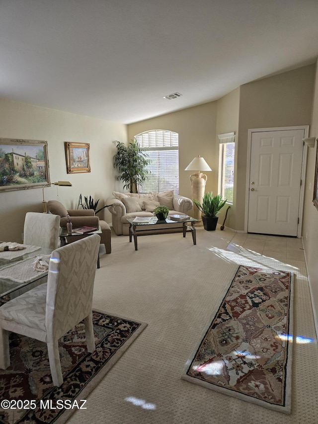
[[[202,221],[204,229],[207,231],[214,231],[217,228],[219,219],[216,215],[226,204],[227,199],[223,200],[221,194],[213,196],[211,191],[204,193],[202,204],[195,199],[192,200],[196,207],[203,213]]]

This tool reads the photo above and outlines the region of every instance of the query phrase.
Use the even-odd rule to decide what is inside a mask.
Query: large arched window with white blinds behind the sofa
[[[135,136],[141,147],[147,148],[151,159],[148,181],[138,187],[140,193],[173,190],[179,193],[179,135],[173,131],[151,130]]]

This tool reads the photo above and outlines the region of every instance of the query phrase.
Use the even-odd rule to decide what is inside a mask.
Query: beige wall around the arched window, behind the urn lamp
[[[190,174],[193,172],[184,169],[195,156],[201,155],[212,169],[206,172],[208,176],[206,191],[215,192],[218,187],[216,122],[217,102],[215,101],[130,124],[128,139],[131,140],[135,135],[149,130],[177,132],[179,134],[179,193],[192,198]]]

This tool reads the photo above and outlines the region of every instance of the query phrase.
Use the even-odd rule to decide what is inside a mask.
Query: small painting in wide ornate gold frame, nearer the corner
[[[67,173],[90,172],[89,143],[64,142]]]

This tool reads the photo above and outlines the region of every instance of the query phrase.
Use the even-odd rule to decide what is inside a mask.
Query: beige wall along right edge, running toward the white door
[[[315,138],[318,137],[318,67],[316,69],[316,84],[314,90],[313,115],[310,136]],[[307,152],[306,186],[303,215],[303,244],[305,248],[307,273],[314,306],[316,331],[318,331],[318,210],[313,204],[316,151],[317,141],[315,147],[308,148]]]

